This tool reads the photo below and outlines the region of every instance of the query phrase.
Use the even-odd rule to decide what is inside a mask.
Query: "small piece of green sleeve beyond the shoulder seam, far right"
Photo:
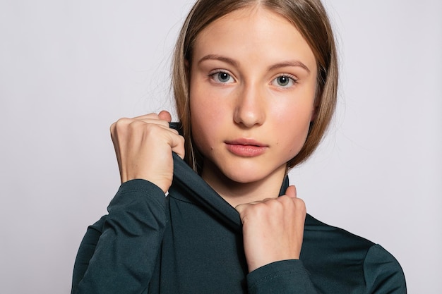
[[[364,260],[366,293],[369,294],[405,294],[405,276],[398,261],[383,249],[373,245]]]

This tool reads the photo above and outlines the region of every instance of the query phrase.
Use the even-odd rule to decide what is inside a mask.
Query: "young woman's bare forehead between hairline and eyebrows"
[[[241,8],[210,23],[196,38],[193,57],[233,55],[253,62],[303,59],[316,63],[309,44],[297,27],[279,13],[262,6]]]

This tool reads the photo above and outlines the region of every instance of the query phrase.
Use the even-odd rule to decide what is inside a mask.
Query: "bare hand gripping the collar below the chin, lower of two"
[[[306,206],[294,186],[283,196],[239,204],[236,209],[243,224],[249,272],[271,262],[299,259]]]

